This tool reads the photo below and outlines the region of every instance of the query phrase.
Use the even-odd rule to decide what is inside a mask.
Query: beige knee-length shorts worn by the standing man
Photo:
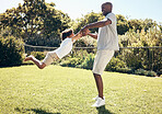
[[[97,50],[92,72],[96,75],[102,75],[113,56],[114,50]]]

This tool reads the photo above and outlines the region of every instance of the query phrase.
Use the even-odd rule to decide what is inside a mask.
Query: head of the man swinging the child
[[[103,15],[107,15],[108,13],[112,12],[113,9],[113,4],[111,2],[105,2],[102,4],[102,12]]]

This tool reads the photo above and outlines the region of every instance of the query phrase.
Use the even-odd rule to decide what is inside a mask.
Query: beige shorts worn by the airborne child
[[[59,58],[58,58],[57,54],[55,53],[55,50],[54,50],[54,52],[48,52],[47,55],[46,55],[46,57],[44,58],[43,62],[44,62],[46,66],[48,66],[48,65],[50,65],[54,60],[58,60],[58,59],[59,59]]]

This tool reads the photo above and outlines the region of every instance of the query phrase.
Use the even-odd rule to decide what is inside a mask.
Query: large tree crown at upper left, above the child
[[[51,44],[46,44],[46,42],[39,44],[37,42],[43,41],[43,38],[55,42],[61,31],[70,27],[70,18],[54,7],[55,3],[45,3],[44,0],[24,0],[22,5],[19,4],[18,8],[8,9],[0,14],[0,29],[10,26],[12,34],[23,37],[27,44],[34,42],[34,45],[54,46],[55,44],[58,46],[57,43],[60,42]]]

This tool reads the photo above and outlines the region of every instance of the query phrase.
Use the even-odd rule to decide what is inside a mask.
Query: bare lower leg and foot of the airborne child
[[[28,56],[24,59],[24,61],[32,60],[39,69],[43,69],[46,67],[44,62],[40,62],[38,59],[36,59],[34,56]]]

